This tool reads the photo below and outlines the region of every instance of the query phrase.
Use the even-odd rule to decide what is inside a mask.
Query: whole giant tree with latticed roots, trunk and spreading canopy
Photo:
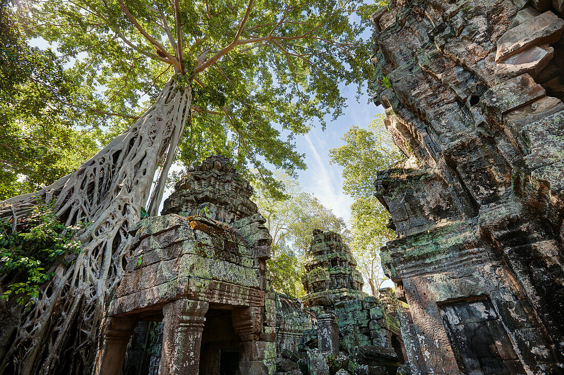
[[[263,162],[290,173],[304,167],[294,134],[311,118],[342,112],[341,83],[367,79],[367,43],[358,36],[368,24],[349,17],[359,9],[365,20],[358,0],[15,3],[25,35],[55,43],[75,59],[81,85],[100,92],[102,103],[86,115],[108,114],[96,126],[119,135],[73,173],[3,202],[14,232],[41,202],[65,227],[87,225],[76,258],[49,265],[55,276],[32,310],[2,305],[9,341],[0,346],[0,373],[89,372],[104,306],[133,255],[128,228],[159,166],[153,215],[174,157],[223,153],[241,168],[254,165],[249,177],[269,187],[276,183]]]

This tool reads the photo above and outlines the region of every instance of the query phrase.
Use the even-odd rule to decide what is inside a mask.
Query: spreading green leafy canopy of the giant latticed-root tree
[[[152,103],[174,72],[186,72],[193,98],[177,161],[230,156],[268,188],[276,181],[265,162],[290,174],[305,168],[294,135],[307,133],[314,118],[324,124],[325,115],[342,113],[340,85],[364,87],[371,68],[360,34],[369,10],[362,0],[54,0],[15,7],[25,37],[56,46],[60,59],[73,63],[66,72],[77,87],[95,91],[89,94],[96,100],[59,105],[96,115],[87,129],[104,133],[100,143],[130,126],[143,113],[138,104]]]

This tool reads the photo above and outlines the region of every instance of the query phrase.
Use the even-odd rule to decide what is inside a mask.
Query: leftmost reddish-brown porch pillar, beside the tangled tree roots
[[[95,375],[121,375],[127,343],[137,325],[135,319],[107,317],[102,322]]]

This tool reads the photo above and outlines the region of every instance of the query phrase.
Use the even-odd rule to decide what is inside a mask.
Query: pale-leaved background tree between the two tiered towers
[[[282,198],[255,186],[253,201],[266,218],[272,236],[272,258],[267,261],[272,286],[292,298],[303,297],[303,258],[309,249],[314,229],[344,233],[345,221],[336,217],[309,193],[303,192],[296,180],[287,174],[275,174],[284,189]]]

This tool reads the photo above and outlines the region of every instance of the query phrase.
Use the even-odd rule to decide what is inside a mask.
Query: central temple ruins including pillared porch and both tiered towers
[[[109,303],[96,374],[402,373],[401,304],[362,292],[337,233],[314,232],[303,303],[274,293],[272,239],[252,192],[230,161],[210,157],[162,216],[131,228],[135,262]]]

